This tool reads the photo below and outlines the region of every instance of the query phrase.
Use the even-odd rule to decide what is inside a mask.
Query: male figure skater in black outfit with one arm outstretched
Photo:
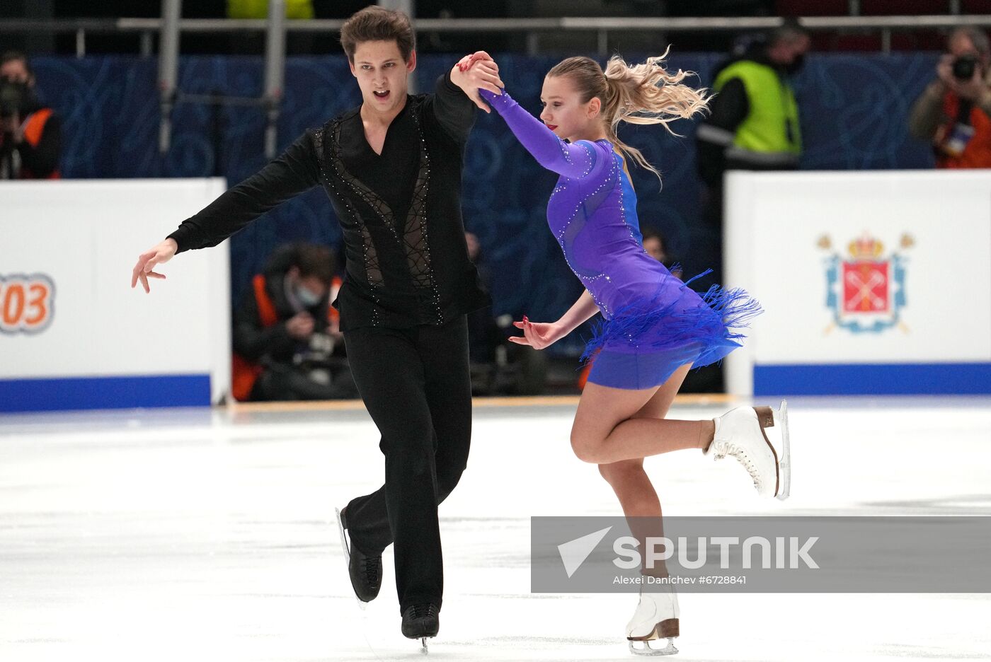
[[[468,258],[461,171],[479,89],[502,85],[491,60],[452,67],[432,94],[407,95],[414,33],[399,12],[368,7],[341,30],[362,105],[307,131],[141,255],[154,267],[214,246],[279,203],[322,185],[344,231],[347,276],[335,306],[369,414],[382,432],[385,485],[339,514],[352,586],[364,602],[382,584],[394,544],[402,633],[435,636],[443,594],[437,505],[457,485],[471,438],[467,313],[488,304]],[[344,530],[347,537],[344,538]]]

